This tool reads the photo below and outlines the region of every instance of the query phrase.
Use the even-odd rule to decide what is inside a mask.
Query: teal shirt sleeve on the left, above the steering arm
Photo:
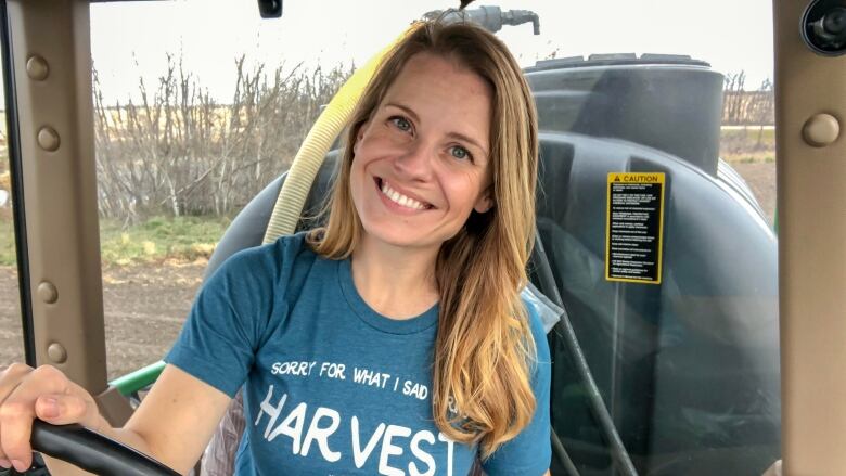
[[[247,249],[221,265],[203,285],[165,362],[235,396],[270,314],[275,287],[270,252]]]

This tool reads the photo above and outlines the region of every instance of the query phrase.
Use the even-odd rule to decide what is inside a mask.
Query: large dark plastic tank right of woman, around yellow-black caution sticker
[[[761,474],[780,458],[777,240],[718,159],[722,76],[613,55],[526,77],[542,131],[539,234],[638,473]],[[606,279],[613,172],[666,178],[659,284]],[[565,339],[550,343],[555,434],[582,476],[619,474]],[[553,474],[566,473],[553,462]]]

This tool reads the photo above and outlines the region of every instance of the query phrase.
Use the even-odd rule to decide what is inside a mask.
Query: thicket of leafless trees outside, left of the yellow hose
[[[300,142],[352,72],[336,65],[285,73],[235,59],[235,89],[220,104],[167,56],[155,88],[139,79],[136,104],[106,106],[97,70],[95,146],[103,216],[230,214],[287,169]]]

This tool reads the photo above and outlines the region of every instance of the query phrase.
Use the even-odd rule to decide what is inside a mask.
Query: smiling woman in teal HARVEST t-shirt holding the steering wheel
[[[185,473],[244,385],[238,474],[546,473],[549,350],[518,298],[536,129],[501,42],[422,24],[358,105],[325,227],[228,260],[123,428],[55,369],[9,368],[0,465],[28,464],[38,416]]]

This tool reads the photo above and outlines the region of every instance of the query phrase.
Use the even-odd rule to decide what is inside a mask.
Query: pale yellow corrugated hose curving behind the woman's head
[[[358,68],[344,86],[335,93],[329,105],[320,113],[311,130],[308,131],[306,139],[297,151],[291,169],[282,189],[279,191],[277,203],[273,206],[273,213],[270,215],[270,221],[265,231],[264,243],[271,243],[279,236],[291,234],[296,230],[299,216],[306,206],[308,192],[317,177],[323,159],[329,153],[329,147],[335,142],[335,139],[344,130],[352,110],[356,107],[364,87],[370,78],[373,77],[376,67],[382,57],[395,44],[415,28],[411,25],[405,33],[398,36],[385,49],[376,53],[368,61],[364,66]]]

